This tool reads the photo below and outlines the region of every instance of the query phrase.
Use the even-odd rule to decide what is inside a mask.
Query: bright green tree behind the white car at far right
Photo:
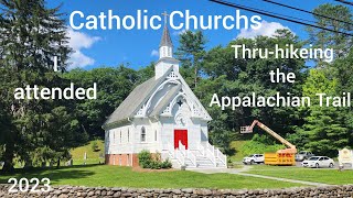
[[[350,131],[344,124],[345,117],[339,108],[320,106],[317,94],[336,95],[338,80],[329,79],[323,69],[311,69],[303,85],[303,96],[311,98],[311,106],[304,108],[304,124],[299,130],[307,138],[304,148],[319,155],[336,156],[338,150],[349,143]]]

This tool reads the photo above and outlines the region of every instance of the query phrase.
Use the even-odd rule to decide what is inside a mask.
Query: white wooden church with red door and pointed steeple
[[[226,167],[226,156],[208,143],[205,108],[179,74],[167,25],[156,75],[136,87],[104,123],[106,164],[138,166],[148,150],[174,168]]]

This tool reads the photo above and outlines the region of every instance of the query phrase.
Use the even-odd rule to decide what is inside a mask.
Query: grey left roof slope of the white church
[[[169,70],[171,70],[170,68]],[[132,118],[135,113],[141,108],[145,101],[153,92],[158,85],[160,85],[168,73],[162,77],[156,79],[154,77],[137,86],[130,95],[120,103],[120,106],[109,116],[103,127]]]

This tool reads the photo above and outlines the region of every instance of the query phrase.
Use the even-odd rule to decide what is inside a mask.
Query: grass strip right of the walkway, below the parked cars
[[[336,168],[303,168],[295,166],[256,165],[248,172],[252,174],[275,176],[290,179],[324,183],[331,185],[353,184],[353,170],[339,172]]]

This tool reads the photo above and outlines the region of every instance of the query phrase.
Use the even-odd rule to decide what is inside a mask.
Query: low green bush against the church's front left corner
[[[151,169],[168,169],[172,167],[172,163],[168,160],[164,162],[160,162],[159,155],[157,155],[157,158],[153,160],[152,155],[149,151],[141,151],[138,155],[139,157],[139,164],[142,168],[151,168]]]

